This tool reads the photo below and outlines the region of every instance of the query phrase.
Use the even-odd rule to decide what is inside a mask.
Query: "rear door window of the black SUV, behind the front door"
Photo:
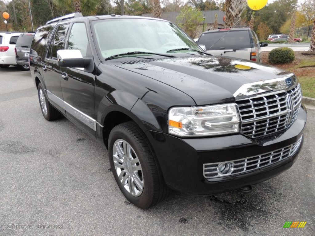
[[[63,49],[64,42],[66,38],[66,34],[69,28],[69,24],[67,25],[59,25],[56,32],[54,33],[54,37],[50,42],[48,57],[51,59],[57,60],[57,51]]]

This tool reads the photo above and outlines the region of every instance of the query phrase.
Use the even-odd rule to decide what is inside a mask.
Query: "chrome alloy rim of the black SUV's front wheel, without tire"
[[[113,161],[118,179],[132,196],[138,197],[143,191],[143,175],[140,161],[131,145],[117,139],[113,145]]]

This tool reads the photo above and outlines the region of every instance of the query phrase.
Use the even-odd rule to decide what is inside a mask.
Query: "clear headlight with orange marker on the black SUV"
[[[239,122],[234,103],[169,110],[169,133],[181,137],[237,133]]]

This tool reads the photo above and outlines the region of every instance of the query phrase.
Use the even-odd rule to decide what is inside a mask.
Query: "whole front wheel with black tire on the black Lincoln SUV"
[[[135,206],[149,208],[169,194],[151,143],[134,122],[112,129],[108,155],[120,190]]]

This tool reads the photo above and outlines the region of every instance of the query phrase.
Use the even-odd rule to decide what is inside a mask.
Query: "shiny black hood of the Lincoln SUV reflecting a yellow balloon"
[[[234,102],[244,84],[292,75],[276,67],[248,60],[216,56],[121,61],[117,67],[174,87],[197,105]]]

